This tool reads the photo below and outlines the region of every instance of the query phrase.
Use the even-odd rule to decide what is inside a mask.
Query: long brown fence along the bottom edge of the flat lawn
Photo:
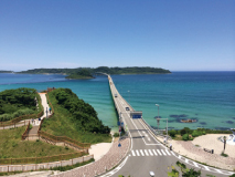
[[[0,165],[22,165],[22,164],[41,164],[50,162],[61,162],[84,156],[84,152],[61,154],[45,157],[24,157],[24,158],[0,158]]]

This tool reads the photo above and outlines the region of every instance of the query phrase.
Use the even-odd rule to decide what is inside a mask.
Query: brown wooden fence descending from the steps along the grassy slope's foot
[[[54,135],[51,135],[51,134],[45,133],[43,131],[39,131],[38,134],[39,134],[39,138],[43,138],[47,143],[51,143],[51,144],[54,144],[54,145],[56,143],[64,143],[64,145],[73,146],[75,148],[83,149],[87,153],[88,153],[88,148],[90,147],[89,143],[81,143],[81,142],[74,140],[70,137],[66,137],[66,136],[54,136]]]

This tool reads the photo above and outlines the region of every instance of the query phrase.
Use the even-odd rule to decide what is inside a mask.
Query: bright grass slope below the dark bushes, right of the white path
[[[83,143],[104,143],[111,142],[111,136],[82,132],[76,128],[70,119],[71,113],[57,104],[56,98],[49,93],[50,101],[54,107],[55,114],[43,122],[42,131],[56,136],[67,136]]]

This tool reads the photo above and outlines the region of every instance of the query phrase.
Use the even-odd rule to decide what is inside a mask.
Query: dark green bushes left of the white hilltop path
[[[20,87],[0,92],[0,122],[38,113],[35,97],[38,93],[34,88]]]

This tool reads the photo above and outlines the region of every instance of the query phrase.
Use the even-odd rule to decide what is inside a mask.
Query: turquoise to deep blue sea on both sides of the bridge
[[[171,128],[235,128],[235,72],[172,72],[172,74],[111,75],[119,93],[143,118],[157,126],[159,115],[169,118]],[[116,129],[117,114],[108,80],[66,80],[65,75],[0,74],[0,92],[8,88],[68,87],[95,107],[105,125]],[[129,92],[128,92],[129,91]],[[194,118],[196,123],[181,123]],[[160,128],[165,122],[160,122]]]

